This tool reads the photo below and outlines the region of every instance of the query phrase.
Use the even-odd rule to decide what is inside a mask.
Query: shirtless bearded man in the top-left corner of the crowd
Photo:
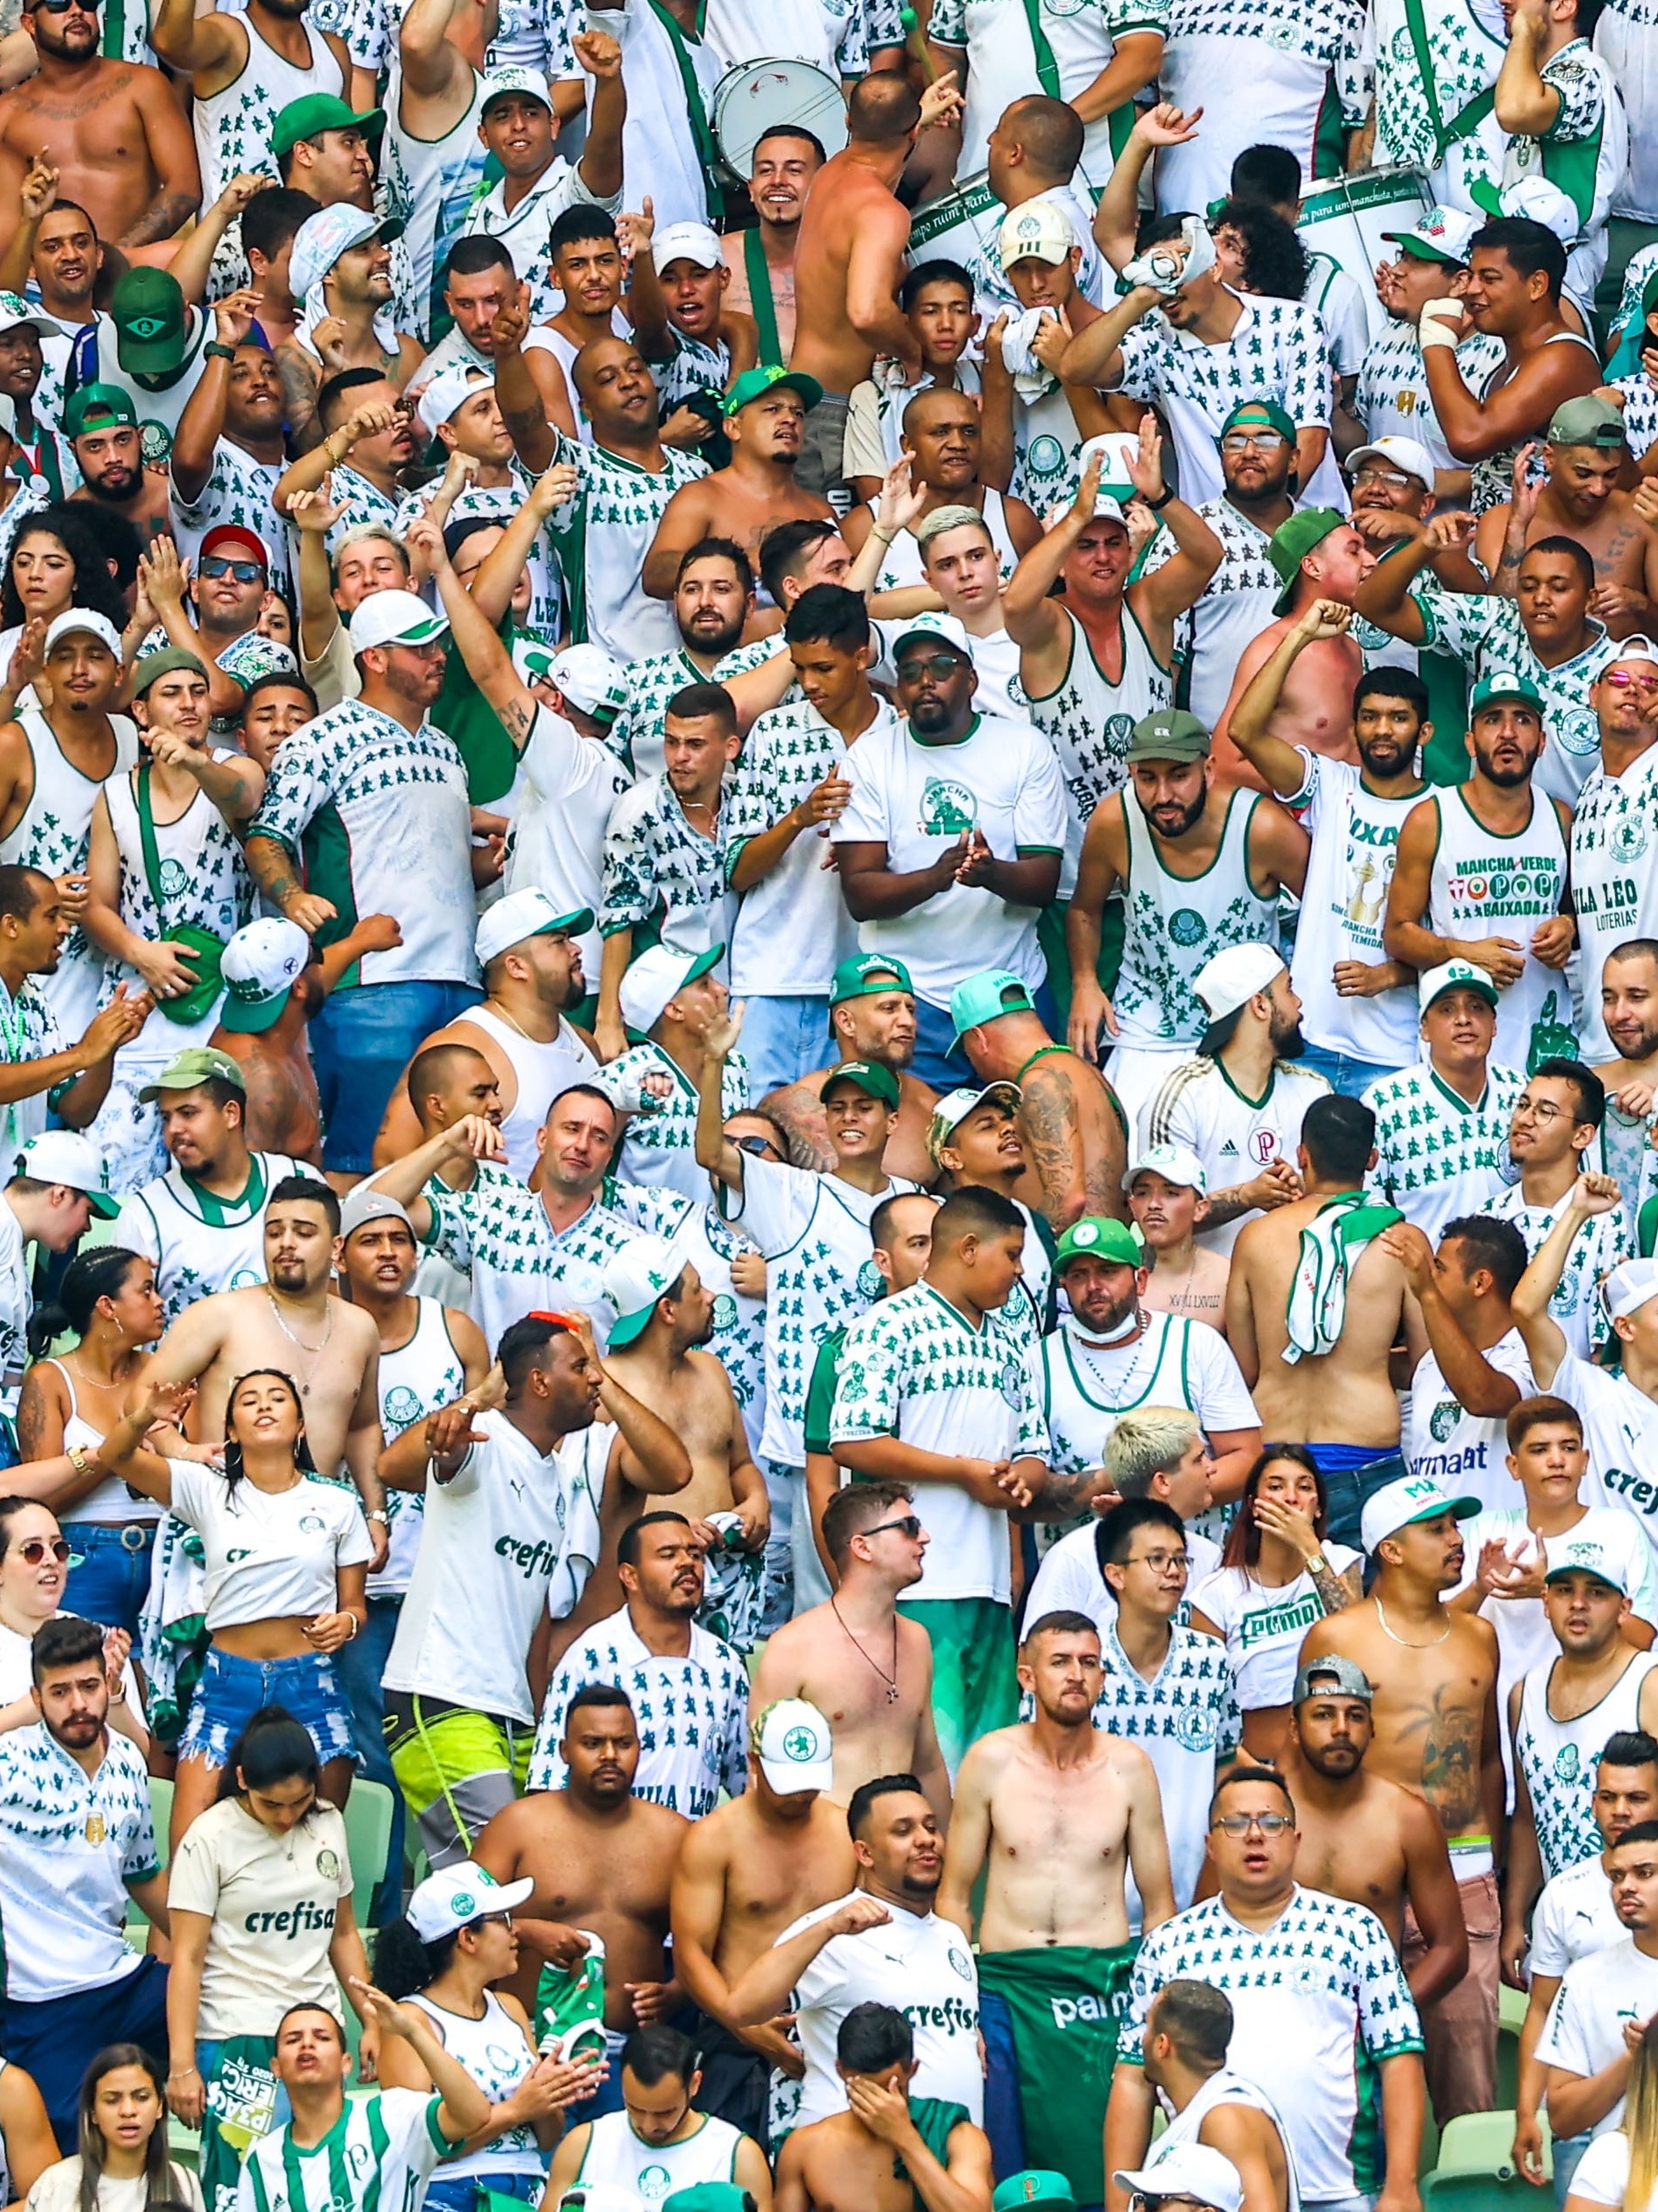
[[[108,62],[97,7],[62,13],[29,4],[22,27],[40,69],[0,95],[0,232],[22,221],[22,179],[35,159],[71,179],[93,230],[133,257],[170,239],[201,206],[190,122],[159,69]]]

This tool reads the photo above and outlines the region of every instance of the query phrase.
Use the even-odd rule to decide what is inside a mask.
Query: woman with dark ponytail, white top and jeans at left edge
[[[80,1338],[62,1358],[35,1358],[22,1378],[18,1447],[11,1469],[20,1498],[38,1498],[64,1515],[75,1566],[64,1584],[64,1610],[137,1635],[150,1590],[150,1553],[161,1509],[104,1471],[104,1438],[126,1411],[126,1394],[146,1345],[161,1334],[155,1261],[124,1245],[97,1245],[64,1270],[57,1298],[38,1305],[29,1343],[49,1345],[73,1329]]]

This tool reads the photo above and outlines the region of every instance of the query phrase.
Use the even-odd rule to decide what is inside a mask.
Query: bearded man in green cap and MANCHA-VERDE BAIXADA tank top
[[[1534,779],[1543,748],[1543,697],[1530,677],[1481,675],[1468,701],[1475,772],[1406,814],[1382,927],[1388,958],[1419,973],[1463,960],[1492,980],[1494,1048],[1514,1068],[1572,1053],[1572,810]]]

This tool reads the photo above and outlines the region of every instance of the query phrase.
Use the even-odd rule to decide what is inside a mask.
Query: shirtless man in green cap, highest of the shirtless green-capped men
[[[668,502],[643,566],[652,599],[674,593],[685,549],[716,531],[754,560],[778,522],[836,520],[827,500],[796,482],[807,414],[820,400],[822,387],[798,369],[745,369],[736,378],[721,409],[730,467],[685,484]]]

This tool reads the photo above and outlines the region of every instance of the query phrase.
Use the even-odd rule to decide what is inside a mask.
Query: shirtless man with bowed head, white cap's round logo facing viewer
[[[783,1745],[807,1730],[811,1750],[829,1752],[822,1712],[794,1697],[765,1701],[758,1674],[749,1703],[749,1785],[688,1829],[670,1911],[674,1973],[701,2013],[703,2108],[765,2139],[772,2073],[798,2081],[800,2048],[785,2022],[734,2024],[727,1997],[783,1929],[847,1893],[858,1858],[844,1807],[825,1787],[827,1761],[800,1761]]]

